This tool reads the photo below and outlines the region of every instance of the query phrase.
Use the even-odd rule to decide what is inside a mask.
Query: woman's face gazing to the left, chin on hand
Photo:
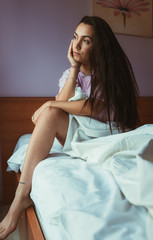
[[[80,23],[74,32],[73,57],[82,65],[90,65],[93,37],[93,27],[84,23]]]

